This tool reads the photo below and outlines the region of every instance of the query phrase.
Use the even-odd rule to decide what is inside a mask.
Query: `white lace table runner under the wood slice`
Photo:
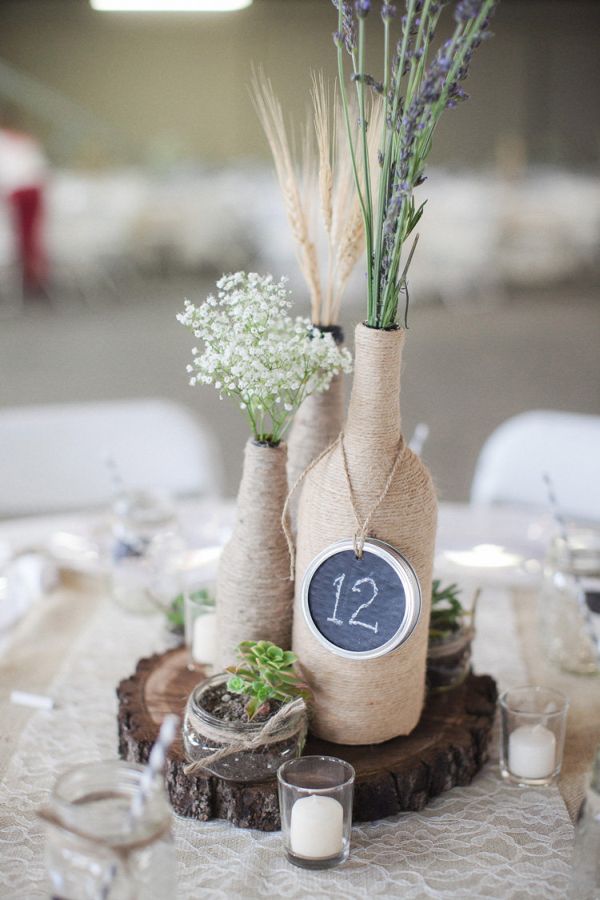
[[[0,787],[0,896],[11,900],[48,896],[44,831],[36,809],[58,772],[115,756],[115,686],[138,658],[164,649],[168,640],[158,619],[128,616],[93,592],[65,592],[64,603],[73,609],[78,604],[84,624],[45,689],[57,708],[35,712],[19,726]],[[525,681],[519,647],[510,594],[486,591],[476,669],[502,686]],[[7,715],[15,707],[2,704],[2,709],[9,737]],[[200,895],[539,900],[566,896],[573,828],[558,789],[507,785],[492,761],[470,787],[450,791],[421,813],[355,827],[349,861],[329,872],[291,866],[278,834],[177,820],[175,836],[178,900]]]

